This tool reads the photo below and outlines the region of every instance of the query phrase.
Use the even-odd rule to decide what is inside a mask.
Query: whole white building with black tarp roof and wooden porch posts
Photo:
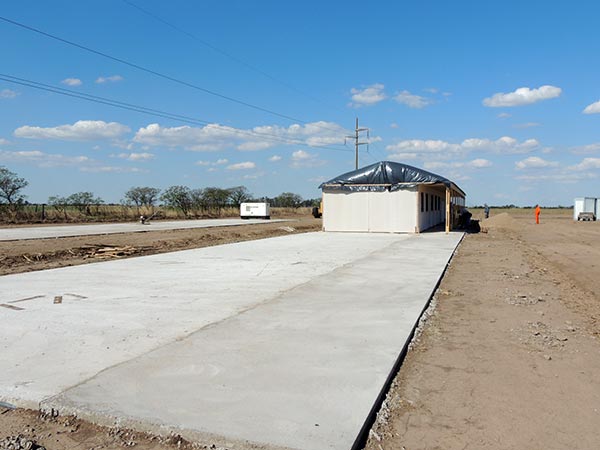
[[[445,224],[450,231],[465,193],[450,180],[389,161],[345,173],[323,184],[324,231],[419,233]]]

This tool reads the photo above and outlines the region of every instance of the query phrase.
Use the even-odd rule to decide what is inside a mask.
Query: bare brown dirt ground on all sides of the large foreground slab
[[[315,227],[312,220],[286,226],[298,230],[302,223]],[[600,223],[543,210],[536,226],[532,213],[492,211],[483,226],[487,233],[468,235],[460,245],[370,433],[369,450],[600,448]],[[278,224],[267,227],[287,233]],[[110,244],[163,242],[161,249],[171,251],[266,237],[260,233],[267,228],[259,228],[144,233],[136,238],[149,240],[136,244],[113,236]],[[106,238],[11,243],[0,246],[0,269],[84,263],[95,256],[75,250],[92,244],[107,244]],[[75,255],[63,258],[69,250]],[[5,436],[19,435],[49,449],[213,448],[0,407],[0,448]]]

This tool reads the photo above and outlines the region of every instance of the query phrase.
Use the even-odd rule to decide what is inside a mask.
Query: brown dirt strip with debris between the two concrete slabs
[[[208,247],[321,229],[321,220],[312,216],[294,216],[288,220],[289,222],[235,227],[0,241],[0,275],[73,266],[115,257],[125,258]],[[99,252],[99,249],[106,251]],[[110,251],[111,249],[115,251]]]

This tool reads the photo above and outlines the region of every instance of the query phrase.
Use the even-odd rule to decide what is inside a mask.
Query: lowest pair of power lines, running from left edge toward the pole
[[[167,118],[167,119],[174,120],[174,121],[189,123],[189,124],[193,124],[193,125],[205,125],[205,126],[211,125],[211,122],[208,122],[206,120],[195,119],[190,116],[169,113],[166,111],[153,109],[153,108],[147,108],[145,106],[139,106],[139,105],[135,105],[132,103],[125,103],[125,102],[121,102],[118,100],[112,100],[112,99],[109,99],[106,97],[100,97],[100,96],[96,96],[96,95],[72,91],[70,89],[52,86],[52,85],[40,83],[37,81],[27,80],[24,78],[14,77],[12,75],[7,75],[7,74],[3,74],[3,73],[0,73],[0,80],[6,81],[8,83],[18,84],[21,86],[38,89],[38,90],[53,92],[55,94],[60,94],[60,95],[64,95],[67,97],[73,97],[73,98],[78,98],[78,99],[86,100],[86,101],[93,102],[93,103],[99,103],[99,104],[103,104],[103,105],[107,105],[107,106],[112,106],[115,108],[125,109],[125,110],[134,111],[134,112],[138,112],[138,113],[142,113],[142,114],[156,116],[156,117],[163,117],[163,118]],[[266,134],[266,133],[258,133],[255,131],[240,130],[238,128],[233,128],[233,127],[227,127],[227,129],[229,131],[231,131],[232,133],[246,135],[246,136],[250,136],[253,138],[260,138],[260,139],[264,139],[264,140],[272,141],[272,142],[282,142],[282,143],[288,144],[288,145],[293,144],[293,145],[299,145],[299,146],[304,146],[304,147],[322,148],[322,149],[326,149],[326,150],[335,150],[335,151],[346,151],[346,152],[351,151],[349,149],[335,148],[335,147],[329,147],[329,146],[324,146],[324,145],[309,145],[304,141],[281,138],[276,135]]]

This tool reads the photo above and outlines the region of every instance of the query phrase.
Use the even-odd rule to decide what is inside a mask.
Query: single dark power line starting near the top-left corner
[[[180,84],[182,86],[187,86],[189,88],[196,89],[196,90],[204,92],[206,94],[213,95],[213,96],[221,98],[223,100],[227,100],[227,101],[230,101],[230,102],[233,102],[233,103],[237,103],[239,105],[243,105],[243,106],[246,106],[248,108],[255,109],[257,111],[262,111],[262,112],[265,112],[267,114],[271,114],[271,115],[274,115],[274,116],[277,116],[277,117],[281,117],[283,119],[291,120],[293,122],[300,122],[300,123],[303,123],[305,125],[308,124],[308,123],[310,123],[310,122],[308,122],[306,120],[298,119],[296,117],[288,116],[286,114],[281,114],[281,113],[278,113],[278,112],[273,111],[271,109],[263,108],[262,106],[257,106],[257,105],[254,105],[252,103],[245,102],[243,100],[238,100],[238,99],[230,97],[228,95],[224,95],[224,94],[221,94],[219,92],[203,88],[203,87],[198,86],[196,84],[180,80],[178,78],[172,77],[170,75],[163,74],[161,72],[157,72],[156,70],[149,69],[147,67],[144,67],[144,66],[141,66],[139,64],[126,61],[126,60],[121,59],[121,58],[117,58],[116,56],[109,55],[108,53],[104,53],[104,52],[101,52],[99,50],[94,50],[93,48],[87,47],[85,45],[78,44],[76,42],[73,42],[73,41],[61,38],[61,37],[56,36],[54,34],[47,33],[45,31],[42,31],[42,30],[38,29],[38,28],[34,28],[34,27],[29,26],[29,25],[25,25],[23,23],[20,23],[20,22],[8,19],[8,18],[3,17],[3,16],[0,16],[0,20],[3,20],[4,22],[10,23],[12,25],[15,25],[17,27],[23,28],[25,30],[29,30],[29,31],[32,31],[34,33],[40,34],[42,36],[48,37],[50,39],[54,39],[54,40],[62,42],[64,44],[71,45],[73,47],[79,48],[79,49],[84,50],[86,52],[93,53],[93,54],[98,55],[98,56],[102,56],[103,58],[110,59],[111,61],[115,61],[115,62],[118,62],[120,64],[124,64],[126,66],[133,67],[134,69],[141,70],[142,72],[146,72],[146,73],[155,75],[157,77],[163,78],[165,80],[169,80],[169,81],[172,81],[174,83]],[[316,125],[316,124],[313,124],[313,126],[318,127],[318,128],[325,128],[325,127],[321,127],[321,126]],[[330,131],[332,130],[330,128],[328,128],[328,129]]]

